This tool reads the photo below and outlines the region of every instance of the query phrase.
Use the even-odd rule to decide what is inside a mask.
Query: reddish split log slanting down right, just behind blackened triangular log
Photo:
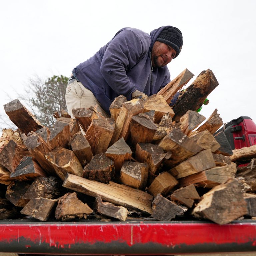
[[[37,160],[41,167],[49,174],[55,174],[54,168],[50,162],[45,158],[49,152],[52,151],[52,147],[47,143],[40,134],[32,132],[28,136],[22,135],[22,139],[30,154]]]

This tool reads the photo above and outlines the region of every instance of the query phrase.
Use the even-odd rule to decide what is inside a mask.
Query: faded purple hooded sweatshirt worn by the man
[[[110,104],[119,95],[131,100],[135,90],[148,96],[156,94],[170,82],[166,66],[153,69],[151,64],[152,47],[165,27],[153,30],[150,35],[136,28],[123,28],[72,73],[109,114]]]

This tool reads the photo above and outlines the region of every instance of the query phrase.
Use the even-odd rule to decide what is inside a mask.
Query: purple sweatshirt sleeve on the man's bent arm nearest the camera
[[[133,31],[123,30],[112,39],[102,58],[102,76],[118,95],[123,94],[127,100],[137,89],[126,72],[147,54],[147,42],[150,38],[141,40]]]

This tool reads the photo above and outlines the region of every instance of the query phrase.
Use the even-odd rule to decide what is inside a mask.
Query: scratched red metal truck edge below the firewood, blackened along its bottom
[[[256,251],[256,222],[0,222],[2,252],[165,254]],[[238,249],[239,248],[239,249]],[[4,249],[4,250],[3,250]]]

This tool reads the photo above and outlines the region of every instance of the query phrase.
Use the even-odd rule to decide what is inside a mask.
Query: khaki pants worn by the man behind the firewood
[[[94,97],[93,93],[85,88],[81,82],[73,79],[68,82],[66,89],[66,105],[68,113],[71,118],[74,118],[72,109],[74,108],[89,108],[90,106],[97,105],[97,111],[104,117],[109,117],[109,115],[100,106],[98,100]]]

